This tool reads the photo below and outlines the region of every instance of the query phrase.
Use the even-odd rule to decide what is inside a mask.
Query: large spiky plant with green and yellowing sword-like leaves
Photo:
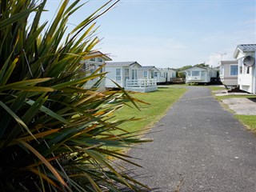
[[[111,122],[114,111],[133,99],[125,91],[86,90],[87,81],[104,74],[85,75],[80,64],[98,42],[95,19],[116,2],[100,7],[66,36],[78,2],[63,1],[47,25],[39,23],[46,0],[0,1],[1,191],[143,186],[112,164],[113,158],[130,162],[114,149],[145,142],[128,131],[113,132],[127,121]]]

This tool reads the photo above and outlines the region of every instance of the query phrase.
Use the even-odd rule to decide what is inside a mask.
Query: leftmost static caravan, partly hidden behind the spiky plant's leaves
[[[86,75],[93,74],[95,70],[98,70],[98,73],[105,72],[106,67],[104,66],[106,62],[111,61],[106,54],[102,54],[100,51],[93,51],[90,54],[87,54],[88,59],[82,60],[82,70],[87,72]],[[105,90],[105,78],[102,78],[102,81],[99,82],[100,78],[93,78],[90,81],[86,82],[85,87],[90,89],[92,86],[98,87],[98,90]]]

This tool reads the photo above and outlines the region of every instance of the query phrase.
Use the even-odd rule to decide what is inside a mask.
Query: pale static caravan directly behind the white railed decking
[[[138,69],[142,66],[138,62],[107,62],[106,87],[125,87],[128,79],[138,79]],[[112,81],[114,82],[112,82]]]

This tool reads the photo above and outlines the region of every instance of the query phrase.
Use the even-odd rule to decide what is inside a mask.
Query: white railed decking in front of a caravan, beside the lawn
[[[126,80],[125,90],[142,93],[158,90],[157,79],[128,79]]]

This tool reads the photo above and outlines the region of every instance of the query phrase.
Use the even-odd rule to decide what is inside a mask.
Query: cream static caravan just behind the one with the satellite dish
[[[238,86],[238,61],[219,62],[219,78],[222,84],[228,86]]]

